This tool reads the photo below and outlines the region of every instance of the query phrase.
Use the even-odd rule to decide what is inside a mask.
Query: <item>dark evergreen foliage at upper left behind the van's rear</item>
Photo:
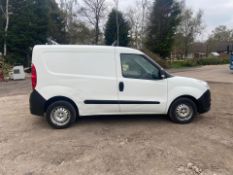
[[[55,0],[11,0],[9,2],[11,15],[7,37],[8,55],[5,58],[7,62],[29,66],[34,45],[45,44],[48,38],[61,43],[68,42],[64,14]],[[0,41],[4,36],[3,24],[4,20],[0,22]],[[2,42],[0,49],[2,52]]]

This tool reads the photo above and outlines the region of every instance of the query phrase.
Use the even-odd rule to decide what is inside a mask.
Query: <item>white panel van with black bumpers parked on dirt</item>
[[[210,110],[206,82],[176,77],[141,51],[108,46],[35,46],[30,110],[54,128],[91,115],[162,114],[189,123]]]

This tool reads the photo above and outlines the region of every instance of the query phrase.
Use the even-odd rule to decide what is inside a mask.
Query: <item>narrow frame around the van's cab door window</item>
[[[120,53],[120,66],[121,66],[121,76],[124,77],[124,78],[127,78],[127,79],[137,79],[137,80],[150,80],[150,81],[158,81],[158,80],[162,80],[163,78],[160,77],[160,78],[157,78],[157,79],[154,79],[154,78],[134,78],[134,77],[126,77],[124,76],[123,74],[123,69],[122,69],[122,56],[123,55],[139,55],[139,56],[142,56],[145,60],[147,60],[149,63],[151,63],[154,67],[156,67],[159,72],[162,71],[162,68],[157,64],[155,63],[150,57],[144,55],[144,54],[136,54],[136,53]],[[166,77],[167,78],[167,77]]]

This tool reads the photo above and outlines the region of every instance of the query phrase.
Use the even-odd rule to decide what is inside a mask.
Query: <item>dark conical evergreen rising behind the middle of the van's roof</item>
[[[113,9],[108,16],[108,21],[105,27],[105,44],[112,45],[117,41],[117,21],[116,15],[118,15],[119,23],[119,46],[128,46],[129,44],[129,24],[124,19],[123,14],[116,9]]]

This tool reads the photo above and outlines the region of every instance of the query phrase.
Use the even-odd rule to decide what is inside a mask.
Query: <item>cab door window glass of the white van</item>
[[[160,71],[143,55],[121,54],[122,75],[125,78],[160,79]]]

